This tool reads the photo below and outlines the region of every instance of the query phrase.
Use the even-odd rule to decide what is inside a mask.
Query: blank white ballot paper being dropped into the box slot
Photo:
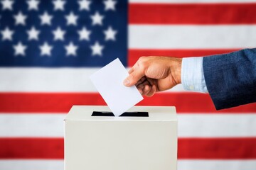
[[[117,58],[90,76],[92,83],[115,116],[121,115],[143,99],[136,86],[124,86],[123,81],[128,75],[122,62]]]

